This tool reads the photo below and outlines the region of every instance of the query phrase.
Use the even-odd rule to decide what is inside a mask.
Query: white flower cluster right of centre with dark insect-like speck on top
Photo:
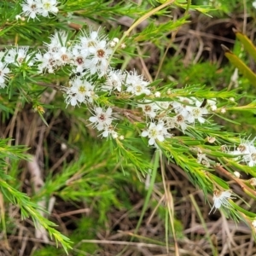
[[[145,99],[138,103],[138,108],[142,108],[145,117],[148,117],[151,120],[151,123],[148,125],[148,130],[155,125],[152,123],[154,119],[157,119],[160,127],[163,127],[162,129],[164,129],[160,132],[154,131],[154,136],[152,132],[149,132],[148,130],[143,131],[142,136],[148,136],[149,145],[156,146],[154,141],[155,138],[161,142],[164,140],[164,137],[172,137],[172,134],[169,133],[169,130],[171,129],[175,128],[185,131],[189,125],[195,125],[196,121],[203,124],[206,121],[205,116],[210,113],[210,110],[216,110],[215,100],[207,101],[205,106],[202,106],[203,102],[195,97],[178,97],[177,101],[158,102],[157,97],[159,94],[160,93],[155,93],[154,97],[156,97],[156,100],[154,102]],[[160,134],[160,137],[158,137],[158,134]]]

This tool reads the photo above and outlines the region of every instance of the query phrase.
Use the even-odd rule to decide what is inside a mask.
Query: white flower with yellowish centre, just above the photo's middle
[[[147,87],[149,83],[143,79],[142,75],[137,75],[136,71],[127,73],[125,84],[127,86],[126,91],[131,92],[133,95],[150,94],[150,90]]]

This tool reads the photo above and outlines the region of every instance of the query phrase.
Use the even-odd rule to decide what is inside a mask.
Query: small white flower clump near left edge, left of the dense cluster
[[[27,51],[28,51],[28,47],[9,49],[4,60],[7,63],[15,64],[15,66],[18,66],[18,67],[20,67],[20,65],[24,62],[26,62],[28,66],[32,66],[33,65],[33,62],[31,60],[32,53],[27,54]]]

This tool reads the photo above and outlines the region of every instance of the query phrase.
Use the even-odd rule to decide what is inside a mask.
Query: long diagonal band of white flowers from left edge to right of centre
[[[37,11],[42,11],[38,0],[27,0],[26,8],[32,3]],[[42,0],[42,3],[46,3],[46,0]],[[55,6],[57,2],[49,0],[49,3],[50,6]],[[158,147],[158,142],[172,137],[172,129],[185,131],[189,125],[195,125],[195,122],[203,124],[207,114],[216,110],[214,99],[204,102],[191,96],[177,97],[175,101],[159,101],[160,91],[153,93],[150,83],[143,75],[137,74],[135,70],[128,72],[110,66],[113,47],[118,43],[118,38],[109,40],[102,35],[100,29],[96,31],[90,28],[87,32],[82,31],[74,40],[69,38],[67,32],[55,32],[50,36],[49,43],[44,43],[42,51],[28,53],[28,48],[9,49],[4,55],[5,62],[2,63],[1,87],[5,86],[9,64],[20,67],[26,63],[28,67],[37,67],[39,74],[56,73],[67,67],[65,71],[69,72],[71,79],[68,86],[61,86],[67,105],[74,107],[86,104],[95,113],[89,120],[94,124],[93,127],[102,131],[102,137],[117,137],[114,131],[116,124],[112,124],[112,109],[108,108],[105,113],[103,108],[95,107],[96,100],[102,92],[115,96],[139,96],[139,100],[134,101],[134,106],[142,109],[141,120],[146,121],[142,137],[148,137],[148,144],[154,147]],[[108,122],[96,122],[96,118],[100,120],[99,116],[104,116],[103,119],[106,118]]]

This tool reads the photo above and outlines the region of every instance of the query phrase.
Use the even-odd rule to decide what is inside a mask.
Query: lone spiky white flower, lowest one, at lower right
[[[219,209],[220,207],[231,207],[229,199],[235,199],[235,196],[232,196],[232,192],[230,190],[226,191],[220,191],[220,190],[214,190],[213,191],[213,206],[209,214],[212,212],[212,210],[215,208],[215,211]],[[214,213],[213,212],[213,213]]]

